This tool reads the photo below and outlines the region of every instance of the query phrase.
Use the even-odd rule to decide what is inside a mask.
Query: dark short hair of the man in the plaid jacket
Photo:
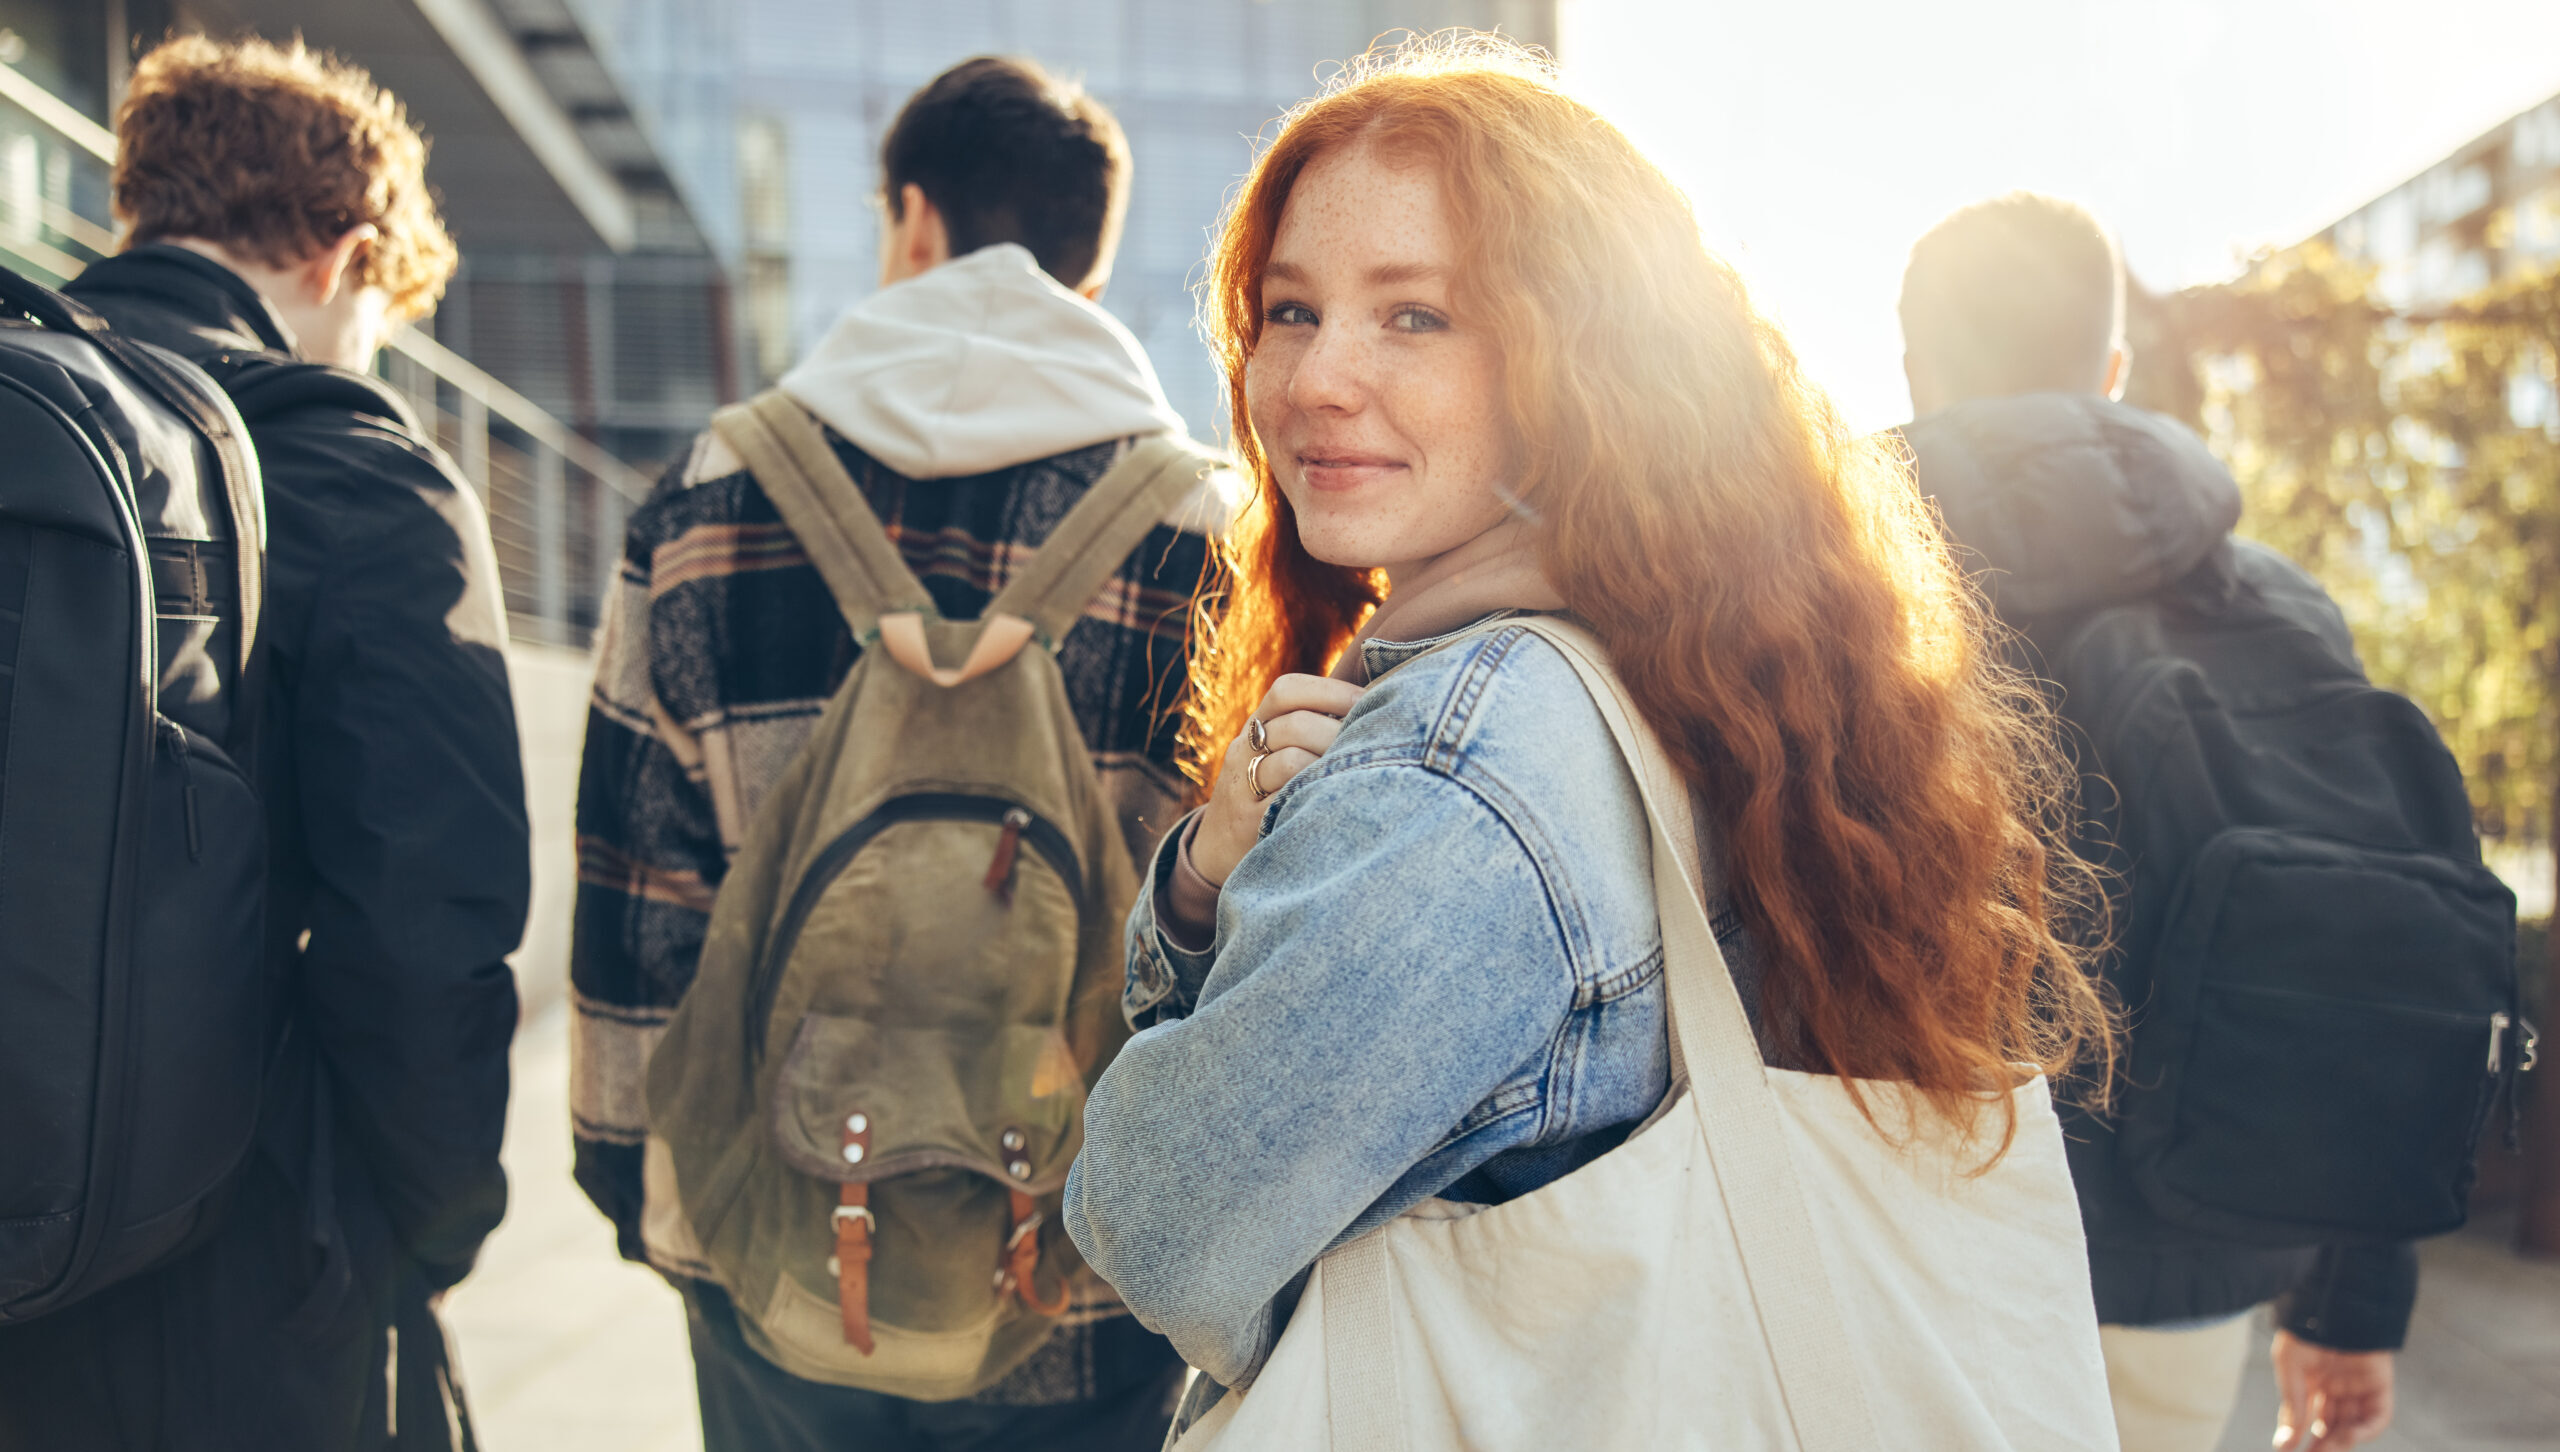
[[[978,56],[906,97],[881,143],[888,215],[914,182],[942,213],[952,256],[1021,243],[1083,287],[1119,248],[1129,138],[1103,102],[1037,61]]]

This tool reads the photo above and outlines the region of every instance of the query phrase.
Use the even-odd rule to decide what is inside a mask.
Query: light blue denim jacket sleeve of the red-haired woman
[[[1272,802],[1211,953],[1165,942],[1139,899],[1129,1001],[1155,1024],[1096,1083],[1068,1178],[1085,1260],[1221,1385],[1260,1370],[1275,1296],[1574,999],[1551,883],[1505,817],[1359,735]]]

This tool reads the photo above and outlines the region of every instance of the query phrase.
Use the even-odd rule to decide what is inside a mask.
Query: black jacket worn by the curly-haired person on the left
[[[100,261],[69,292],[197,361],[292,351],[256,289],[184,248]],[[259,1140],[202,1250],[0,1339],[0,1447],[451,1444],[430,1296],[507,1209],[504,955],[530,896],[497,558],[397,399],[251,435],[284,983]],[[31,1385],[49,1421],[23,1421]]]

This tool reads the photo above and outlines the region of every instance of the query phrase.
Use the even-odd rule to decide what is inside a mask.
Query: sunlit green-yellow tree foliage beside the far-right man
[[[2130,402],[2232,466],[2240,530],[2309,569],[2368,671],[2442,727],[2491,837],[2560,794],[2560,271],[2427,312],[2319,243],[2143,297]]]

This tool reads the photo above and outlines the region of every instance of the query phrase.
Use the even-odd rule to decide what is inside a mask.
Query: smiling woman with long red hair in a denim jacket
[[[1910,479],[1533,59],[1408,46],[1298,108],[1203,312],[1257,494],[1065,1219],[1211,1380],[1329,1247],[1672,1091],[1646,807],[1516,615],[1587,627],[1695,794],[1766,1063],[1902,1081],[1879,1129],[1981,1170],[2022,1145],[1987,1086],[2104,1058],[2061,773]]]

